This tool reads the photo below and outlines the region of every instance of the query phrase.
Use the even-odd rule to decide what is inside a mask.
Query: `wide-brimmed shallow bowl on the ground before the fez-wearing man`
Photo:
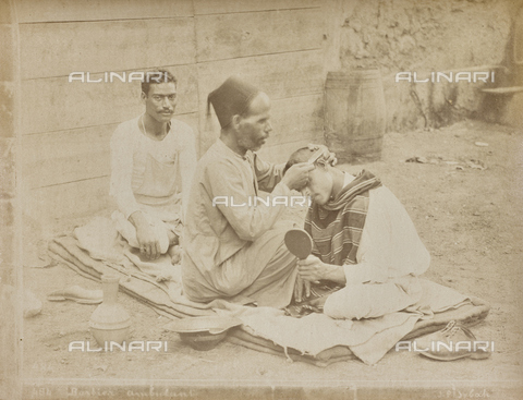
[[[180,339],[195,350],[206,351],[216,348],[230,328],[242,322],[233,317],[190,317],[178,319],[165,328],[180,335]]]

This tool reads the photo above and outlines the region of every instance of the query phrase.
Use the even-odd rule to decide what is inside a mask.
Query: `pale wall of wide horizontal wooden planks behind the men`
[[[71,72],[171,70],[175,118],[193,126],[199,155],[219,135],[207,94],[231,74],[272,99],[266,159],[323,130],[320,0],[16,0],[16,13],[21,181],[26,214],[42,222],[110,206],[110,136],[143,112],[138,82],[69,83]]]

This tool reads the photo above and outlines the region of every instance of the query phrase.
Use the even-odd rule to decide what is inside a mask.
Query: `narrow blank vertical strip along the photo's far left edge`
[[[21,210],[16,192],[20,65],[13,0],[0,0],[0,398],[21,393]]]

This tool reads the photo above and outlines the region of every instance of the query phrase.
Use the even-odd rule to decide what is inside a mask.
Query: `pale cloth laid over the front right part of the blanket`
[[[283,348],[293,348],[313,356],[336,346],[346,346],[367,364],[378,362],[417,320],[434,313],[470,304],[455,290],[421,280],[424,295],[404,312],[360,320],[332,319],[325,314],[302,318],[285,316],[282,311],[258,307],[236,314],[253,335],[269,339]]]

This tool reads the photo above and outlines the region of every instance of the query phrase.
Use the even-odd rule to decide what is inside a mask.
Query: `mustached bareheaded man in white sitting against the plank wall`
[[[192,129],[172,119],[178,97],[170,72],[147,72],[141,99],[145,112],[111,138],[112,219],[132,247],[155,259],[179,243],[196,153]]]

